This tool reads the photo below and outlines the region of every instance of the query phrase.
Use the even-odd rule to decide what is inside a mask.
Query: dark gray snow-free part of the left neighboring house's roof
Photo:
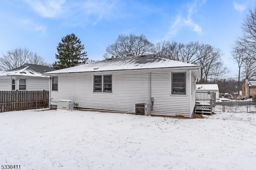
[[[34,72],[38,72],[38,73],[54,71],[54,69],[49,66],[43,66],[43,65],[38,65],[38,64],[23,64],[21,67],[13,68],[13,69],[6,70],[6,71],[22,70],[23,68],[26,68],[27,66],[29,66],[28,67],[29,70],[33,70]]]

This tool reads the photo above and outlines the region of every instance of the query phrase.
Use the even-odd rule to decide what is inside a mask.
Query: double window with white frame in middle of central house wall
[[[112,75],[94,75],[94,92],[112,92]]]

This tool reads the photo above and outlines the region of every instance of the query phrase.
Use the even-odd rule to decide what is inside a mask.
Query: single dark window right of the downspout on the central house
[[[172,94],[186,94],[186,72],[172,73]]]

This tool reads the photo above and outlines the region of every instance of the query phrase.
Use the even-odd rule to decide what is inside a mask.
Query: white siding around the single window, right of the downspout
[[[151,97],[155,115],[183,115],[190,117],[189,71],[186,72],[186,95],[171,94],[171,72],[151,73]]]

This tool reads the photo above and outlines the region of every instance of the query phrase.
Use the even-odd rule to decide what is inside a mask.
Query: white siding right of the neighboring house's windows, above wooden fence
[[[49,78],[28,77],[27,90],[49,90]]]

